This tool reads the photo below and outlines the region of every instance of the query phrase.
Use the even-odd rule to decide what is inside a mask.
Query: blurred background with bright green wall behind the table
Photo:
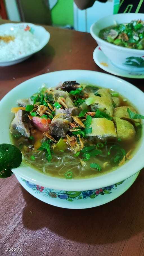
[[[0,0],[2,19],[38,23],[90,32],[98,19],[113,14],[119,0],[98,1],[86,10],[77,8],[73,0]]]

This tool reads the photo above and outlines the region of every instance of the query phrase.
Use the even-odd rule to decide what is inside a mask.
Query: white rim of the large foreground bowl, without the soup
[[[11,143],[9,137],[9,126],[12,121],[13,114],[11,108],[16,106],[16,100],[19,98],[27,98],[33,95],[42,83],[46,83],[48,87],[55,87],[60,81],[76,80],[79,83],[89,83],[111,88],[118,91],[125,98],[128,98],[138,109],[140,114],[143,114],[144,93],[132,84],[100,72],[88,70],[63,70],[47,73],[38,77],[31,78],[19,86],[12,89],[0,102],[0,117],[1,117],[1,133],[0,143]],[[144,127],[143,127],[144,130]],[[34,184],[39,184],[43,187],[68,190],[68,191],[83,191],[95,188],[107,187],[125,180],[144,167],[144,131],[142,133],[141,145],[134,157],[127,161],[125,165],[117,170],[89,179],[59,179],[50,177],[39,171],[32,169],[30,166],[22,163],[18,168],[13,169],[13,172],[18,176],[30,181]]]

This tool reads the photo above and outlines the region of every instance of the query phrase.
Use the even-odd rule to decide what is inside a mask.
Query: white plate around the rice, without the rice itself
[[[50,33],[45,30],[42,26],[37,26],[32,23],[7,23],[7,24],[2,24],[0,25],[0,31],[6,31],[6,30],[14,30],[15,28],[20,28],[24,30],[27,26],[31,29],[31,32],[33,35],[39,40],[39,46],[35,51],[31,51],[31,53],[27,55],[22,55],[20,57],[17,57],[13,60],[5,60],[1,61],[0,60],[0,66],[11,66],[14,64],[17,64],[19,62],[22,62],[23,60],[28,59],[31,55],[36,53],[37,51],[40,51],[50,40]]]

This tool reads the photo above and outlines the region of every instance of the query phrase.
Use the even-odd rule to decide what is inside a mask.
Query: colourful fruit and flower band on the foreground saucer
[[[123,183],[123,181],[121,181],[109,187],[87,190],[87,191],[64,191],[64,190],[55,190],[55,189],[45,188],[39,185],[35,185],[29,181],[26,181],[25,179],[22,179],[22,181],[24,181],[26,185],[29,188],[31,188],[33,191],[35,191],[35,193],[37,194],[41,193],[43,194],[43,196],[46,196],[46,197],[65,199],[70,202],[73,202],[75,199],[77,200],[87,199],[87,198],[94,199],[98,195],[111,194],[113,190],[117,188],[118,185]]]

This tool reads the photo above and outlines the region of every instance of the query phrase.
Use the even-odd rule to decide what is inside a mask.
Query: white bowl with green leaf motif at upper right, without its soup
[[[94,23],[91,26],[90,32],[92,37],[96,40],[98,45],[104,54],[111,60],[114,66],[127,70],[129,72],[141,72],[144,71],[144,50],[136,50],[125,48],[122,46],[117,46],[111,44],[103,39],[101,39],[98,34],[101,29],[108,26],[122,23],[129,23],[132,20],[144,20],[144,14],[141,13],[126,13],[126,14],[115,14],[104,17]],[[132,59],[128,59],[131,58]],[[140,58],[140,59],[135,59]],[[131,60],[133,62],[131,62]]]

